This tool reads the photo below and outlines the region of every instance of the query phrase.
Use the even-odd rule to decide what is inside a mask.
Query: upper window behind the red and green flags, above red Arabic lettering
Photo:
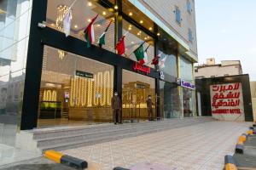
[[[154,68],[154,65],[151,65],[152,59],[154,59],[154,39],[149,37],[148,34],[139,30],[136,26],[131,25],[131,23],[123,20],[123,34],[128,31],[125,37],[125,54],[124,56],[128,59],[137,61],[133,52],[143,43],[143,49],[147,53],[148,62],[144,65],[148,65]],[[147,50],[146,50],[147,49]]]

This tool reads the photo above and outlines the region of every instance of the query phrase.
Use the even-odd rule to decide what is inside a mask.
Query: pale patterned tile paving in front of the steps
[[[100,164],[99,170],[140,162],[176,170],[217,170],[224,167],[224,156],[233,154],[238,136],[248,126],[247,122],[206,122],[63,152]]]

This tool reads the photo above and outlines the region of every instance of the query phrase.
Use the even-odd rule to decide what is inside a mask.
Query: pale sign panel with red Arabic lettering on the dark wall
[[[210,86],[212,116],[224,121],[244,121],[241,83]]]

